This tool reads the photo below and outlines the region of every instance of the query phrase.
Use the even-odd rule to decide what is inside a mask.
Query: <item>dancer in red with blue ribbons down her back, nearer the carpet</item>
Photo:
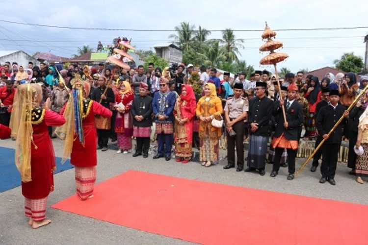
[[[112,112],[88,98],[90,85],[79,75],[71,80],[73,90],[60,114],[67,122],[56,128],[55,133],[65,140],[63,161],[70,157],[75,166],[77,195],[81,200],[93,197],[96,182],[97,132],[95,115],[108,118]]]

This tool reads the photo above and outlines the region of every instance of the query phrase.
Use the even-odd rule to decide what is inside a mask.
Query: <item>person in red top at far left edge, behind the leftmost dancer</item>
[[[0,124],[9,126],[10,113],[13,107],[15,88],[13,82],[6,81],[6,86],[0,88]]]

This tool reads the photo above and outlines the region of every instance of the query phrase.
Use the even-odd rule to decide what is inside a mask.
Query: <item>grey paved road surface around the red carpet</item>
[[[14,148],[14,141],[2,140],[1,147]],[[56,156],[62,152],[62,144],[53,140]],[[221,152],[226,155],[225,151]],[[304,159],[297,159],[297,168]],[[0,158],[1,164],[1,158]],[[176,163],[174,160],[153,160],[141,157],[133,158],[131,154],[115,153],[115,150],[98,151],[97,183],[128,170],[160,173],[187,179],[222,183],[233,186],[249,187],[268,191],[314,196],[368,204],[368,184],[358,184],[354,177],[348,175],[345,164],[339,164],[335,180],[336,186],[329,183],[320,184],[319,172],[312,173],[307,166],[299,176],[288,181],[287,168],[282,168],[276,178],[269,177],[272,166],[267,164],[266,175],[257,173],[236,172],[235,169],[223,170],[225,162],[210,168],[198,163]],[[311,164],[311,163],[310,163]],[[54,175],[55,191],[49,196],[48,207],[75,194],[74,170]],[[124,187],[122,187],[124,188]],[[237,196],[234,196],[234,202]],[[287,205],[287,203],[285,204]],[[47,216],[52,223],[33,230],[26,225],[23,215],[24,199],[21,188],[14,188],[0,193],[0,244],[188,244],[156,234],[134,230],[131,228],[97,221],[79,215],[70,214],[48,208]],[[265,210],[265,212],[267,212]],[[302,212],[302,210],[301,210]]]

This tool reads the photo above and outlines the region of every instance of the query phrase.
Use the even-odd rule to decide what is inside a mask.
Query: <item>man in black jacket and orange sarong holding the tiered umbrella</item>
[[[288,87],[288,98],[275,104],[274,115],[276,118],[276,130],[272,141],[275,148],[271,177],[275,177],[280,169],[281,156],[286,148],[288,151],[289,175],[288,180],[294,179],[295,157],[298,151],[298,127],[304,122],[303,106],[296,101],[298,86],[291,83]],[[282,115],[282,107],[285,108],[286,120]]]

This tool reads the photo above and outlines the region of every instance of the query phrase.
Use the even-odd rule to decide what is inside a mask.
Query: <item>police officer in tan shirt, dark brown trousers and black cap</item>
[[[237,147],[237,172],[244,168],[243,120],[248,112],[248,99],[242,97],[243,85],[234,85],[234,97],[228,98],[225,104],[226,136],[228,141],[228,165],[224,169],[235,167],[235,152]]]

